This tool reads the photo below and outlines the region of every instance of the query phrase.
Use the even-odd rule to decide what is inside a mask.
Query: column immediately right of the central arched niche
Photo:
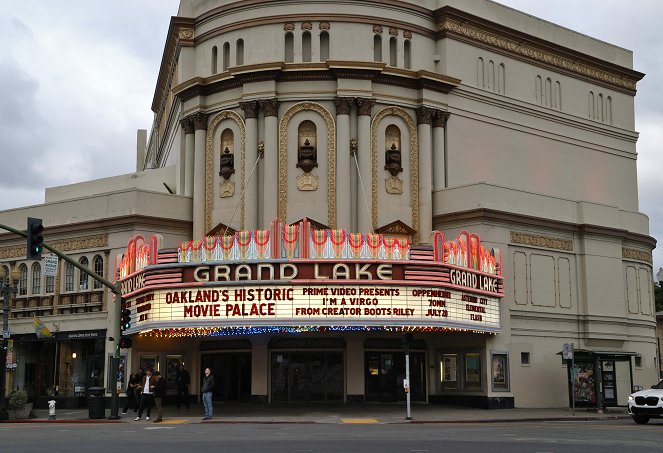
[[[336,104],[336,228],[352,231],[350,175],[354,163],[350,155],[350,106],[352,98],[337,97]],[[331,194],[330,194],[331,195]]]

